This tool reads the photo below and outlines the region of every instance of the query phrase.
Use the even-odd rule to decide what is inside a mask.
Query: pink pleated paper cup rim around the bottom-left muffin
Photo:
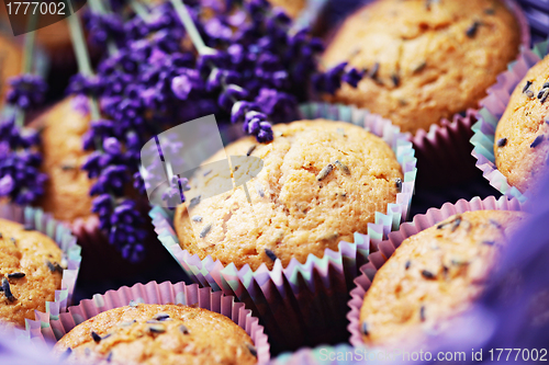
[[[45,341],[58,341],[81,322],[100,312],[127,306],[132,300],[144,304],[197,306],[222,313],[242,327],[251,338],[257,349],[258,364],[266,364],[270,360],[268,337],[259,320],[251,316],[251,310],[246,309],[243,303],[236,303],[233,296],[182,282],[177,284],[149,282],[135,284],[132,287],[123,286],[102,295],[96,294],[92,299],[85,299],[78,306],[69,307],[67,312],[51,320],[49,326],[42,328],[38,334]]]

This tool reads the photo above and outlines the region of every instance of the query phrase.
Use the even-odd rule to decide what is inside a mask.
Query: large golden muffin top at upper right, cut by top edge
[[[403,132],[477,107],[518,54],[519,26],[498,0],[379,0],[345,21],[326,49],[367,76],[333,102],[366,107]]]

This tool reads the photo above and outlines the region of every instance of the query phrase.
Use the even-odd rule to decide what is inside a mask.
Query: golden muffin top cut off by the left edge
[[[25,326],[61,288],[63,252],[47,236],[0,219],[0,323]],[[7,292],[5,288],[9,288]]]

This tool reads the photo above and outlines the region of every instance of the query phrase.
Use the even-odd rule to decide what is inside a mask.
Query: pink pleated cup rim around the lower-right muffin
[[[360,266],[361,275],[355,280],[356,287],[350,292],[351,299],[348,303],[350,311],[347,313],[347,319],[349,320],[347,329],[350,333],[351,345],[365,345],[360,332],[359,318],[366,292],[370,288],[373,276],[378,270],[389,260],[394,250],[401,246],[402,241],[424,229],[435,226],[455,214],[472,210],[522,209],[522,203],[515,198],[508,199],[506,196],[501,196],[496,199],[494,196],[489,196],[485,199],[481,199],[480,197],[473,197],[470,202],[460,199],[456,204],[446,203],[440,209],[430,208],[426,214],[416,215],[413,221],[402,224],[397,231],[391,232],[386,240],[379,243],[378,251],[372,252],[368,256],[368,263]]]

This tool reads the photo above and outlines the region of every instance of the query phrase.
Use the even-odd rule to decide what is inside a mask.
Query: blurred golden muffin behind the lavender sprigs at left
[[[47,173],[40,205],[56,219],[74,220],[91,215],[89,191],[92,182],[80,167],[89,152],[82,149],[82,135],[90,116],[75,110],[68,98],[41,115],[33,125],[42,132],[42,169]]]

